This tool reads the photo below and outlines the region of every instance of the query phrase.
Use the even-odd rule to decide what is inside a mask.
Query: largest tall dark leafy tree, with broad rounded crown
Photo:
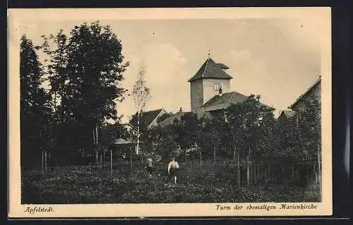
[[[49,41],[56,49],[50,49]],[[54,104],[59,104],[58,145],[65,143],[64,139],[66,146],[61,147],[95,152],[98,163],[100,126],[107,119],[116,119],[116,102],[121,102],[126,92],[121,81],[128,62],[124,63],[121,41],[109,26],[83,23],[75,26],[69,37],[62,31],[45,37],[42,48],[51,58],[47,70],[54,102],[59,99]]]

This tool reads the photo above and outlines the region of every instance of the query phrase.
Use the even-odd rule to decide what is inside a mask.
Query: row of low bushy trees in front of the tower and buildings
[[[174,155],[187,162],[190,157],[198,159],[201,166],[205,159],[214,163],[233,160],[237,177],[242,176],[247,184],[260,179],[254,174],[259,173],[258,161],[265,162],[261,170],[265,171],[266,183],[270,182],[271,166],[277,164],[311,165],[316,182],[320,182],[320,104],[316,99],[306,99],[305,106],[286,121],[277,121],[273,110],[261,104],[259,96],[251,95],[224,113],[202,118],[187,113],[167,126],[152,128],[145,142],[166,160]],[[240,185],[240,180],[237,183]]]

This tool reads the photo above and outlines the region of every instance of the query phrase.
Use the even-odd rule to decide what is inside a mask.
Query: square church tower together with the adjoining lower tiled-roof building
[[[231,90],[232,76],[226,73],[227,69],[229,67],[224,63],[216,63],[208,57],[197,73],[188,80],[191,112],[198,116],[212,117],[222,113],[231,104],[238,104],[248,98]],[[273,107],[269,109],[274,110]]]

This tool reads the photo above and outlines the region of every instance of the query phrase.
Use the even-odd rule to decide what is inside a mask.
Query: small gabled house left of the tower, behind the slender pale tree
[[[165,109],[155,109],[151,111],[140,111],[140,130],[148,130],[157,125],[157,120],[163,114],[167,114]],[[130,120],[131,126],[137,128],[138,114],[134,114]]]

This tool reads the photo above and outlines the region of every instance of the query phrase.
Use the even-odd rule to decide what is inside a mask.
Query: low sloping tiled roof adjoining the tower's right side
[[[221,109],[226,109],[231,104],[238,104],[239,102],[243,102],[248,97],[242,95],[239,92],[228,92],[220,95],[215,95],[213,98],[205,102],[201,107],[202,111],[216,111]],[[261,103],[262,104],[262,103]],[[267,105],[263,104],[268,107]],[[268,107],[269,109],[273,109],[273,107]]]

